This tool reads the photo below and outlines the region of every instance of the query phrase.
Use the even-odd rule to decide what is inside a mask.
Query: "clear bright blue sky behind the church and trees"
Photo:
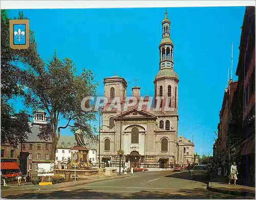
[[[100,84],[98,95],[103,94],[103,78],[115,71],[128,82],[127,95],[132,94],[135,78],[142,96],[154,95],[165,8],[24,9],[9,10],[8,16],[13,18],[18,11],[30,19],[42,58],[51,59],[56,49],[58,57],[74,61],[78,72],[83,67],[93,70]],[[180,79],[178,133],[191,140],[194,133],[195,152],[212,155],[232,42],[233,79],[237,80],[245,7],[167,11],[175,46],[174,70]],[[22,107],[19,99],[14,105]],[[62,131],[70,134],[68,129]]]

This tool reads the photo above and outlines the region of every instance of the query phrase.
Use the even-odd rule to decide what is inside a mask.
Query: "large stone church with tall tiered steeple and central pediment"
[[[122,167],[170,168],[183,164],[178,160],[178,83],[174,71],[174,44],[170,39],[170,21],[167,12],[162,21],[162,40],[159,45],[159,71],[154,80],[155,101],[150,110],[138,109],[137,105],[126,111],[109,109],[110,102],[102,108],[100,128],[100,161],[106,166],[119,166],[118,150],[123,151]],[[127,82],[123,77],[104,78],[104,96],[119,97],[125,102]],[[133,97],[148,102],[148,96],[140,96],[140,87],[132,88]],[[156,100],[161,97],[162,100]],[[160,109],[155,109],[157,105]],[[164,109],[168,106],[168,110]],[[193,149],[194,144],[186,144]],[[193,148],[192,148],[193,147]],[[183,148],[183,147],[182,147]],[[181,150],[180,150],[181,151]],[[182,153],[183,156],[183,153]],[[108,162],[109,161],[109,162]]]

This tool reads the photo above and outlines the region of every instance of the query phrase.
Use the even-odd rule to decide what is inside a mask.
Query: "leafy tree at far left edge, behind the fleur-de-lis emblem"
[[[19,12],[18,19],[25,19]],[[36,66],[41,62],[37,54],[34,34],[30,31],[28,49],[14,50],[9,45],[9,18],[6,10],[1,10],[1,144],[17,146],[25,141],[29,133],[29,115],[25,111],[15,113],[8,101],[22,95],[24,88],[19,84],[18,63]]]

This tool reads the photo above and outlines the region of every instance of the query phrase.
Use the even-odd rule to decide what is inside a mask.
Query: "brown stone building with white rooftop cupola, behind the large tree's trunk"
[[[33,122],[31,123],[32,133],[28,140],[22,144],[22,152],[27,154],[27,171],[30,174],[35,174],[38,169],[38,163],[51,163],[50,155],[52,142],[44,141],[37,135],[40,132],[40,126],[46,125],[46,112],[35,111],[33,113]]]

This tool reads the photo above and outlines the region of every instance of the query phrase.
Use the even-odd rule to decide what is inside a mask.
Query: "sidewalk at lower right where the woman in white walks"
[[[233,183],[233,182],[231,182]],[[226,176],[213,175],[207,186],[207,190],[239,196],[255,196],[255,188],[243,185],[228,184]]]

